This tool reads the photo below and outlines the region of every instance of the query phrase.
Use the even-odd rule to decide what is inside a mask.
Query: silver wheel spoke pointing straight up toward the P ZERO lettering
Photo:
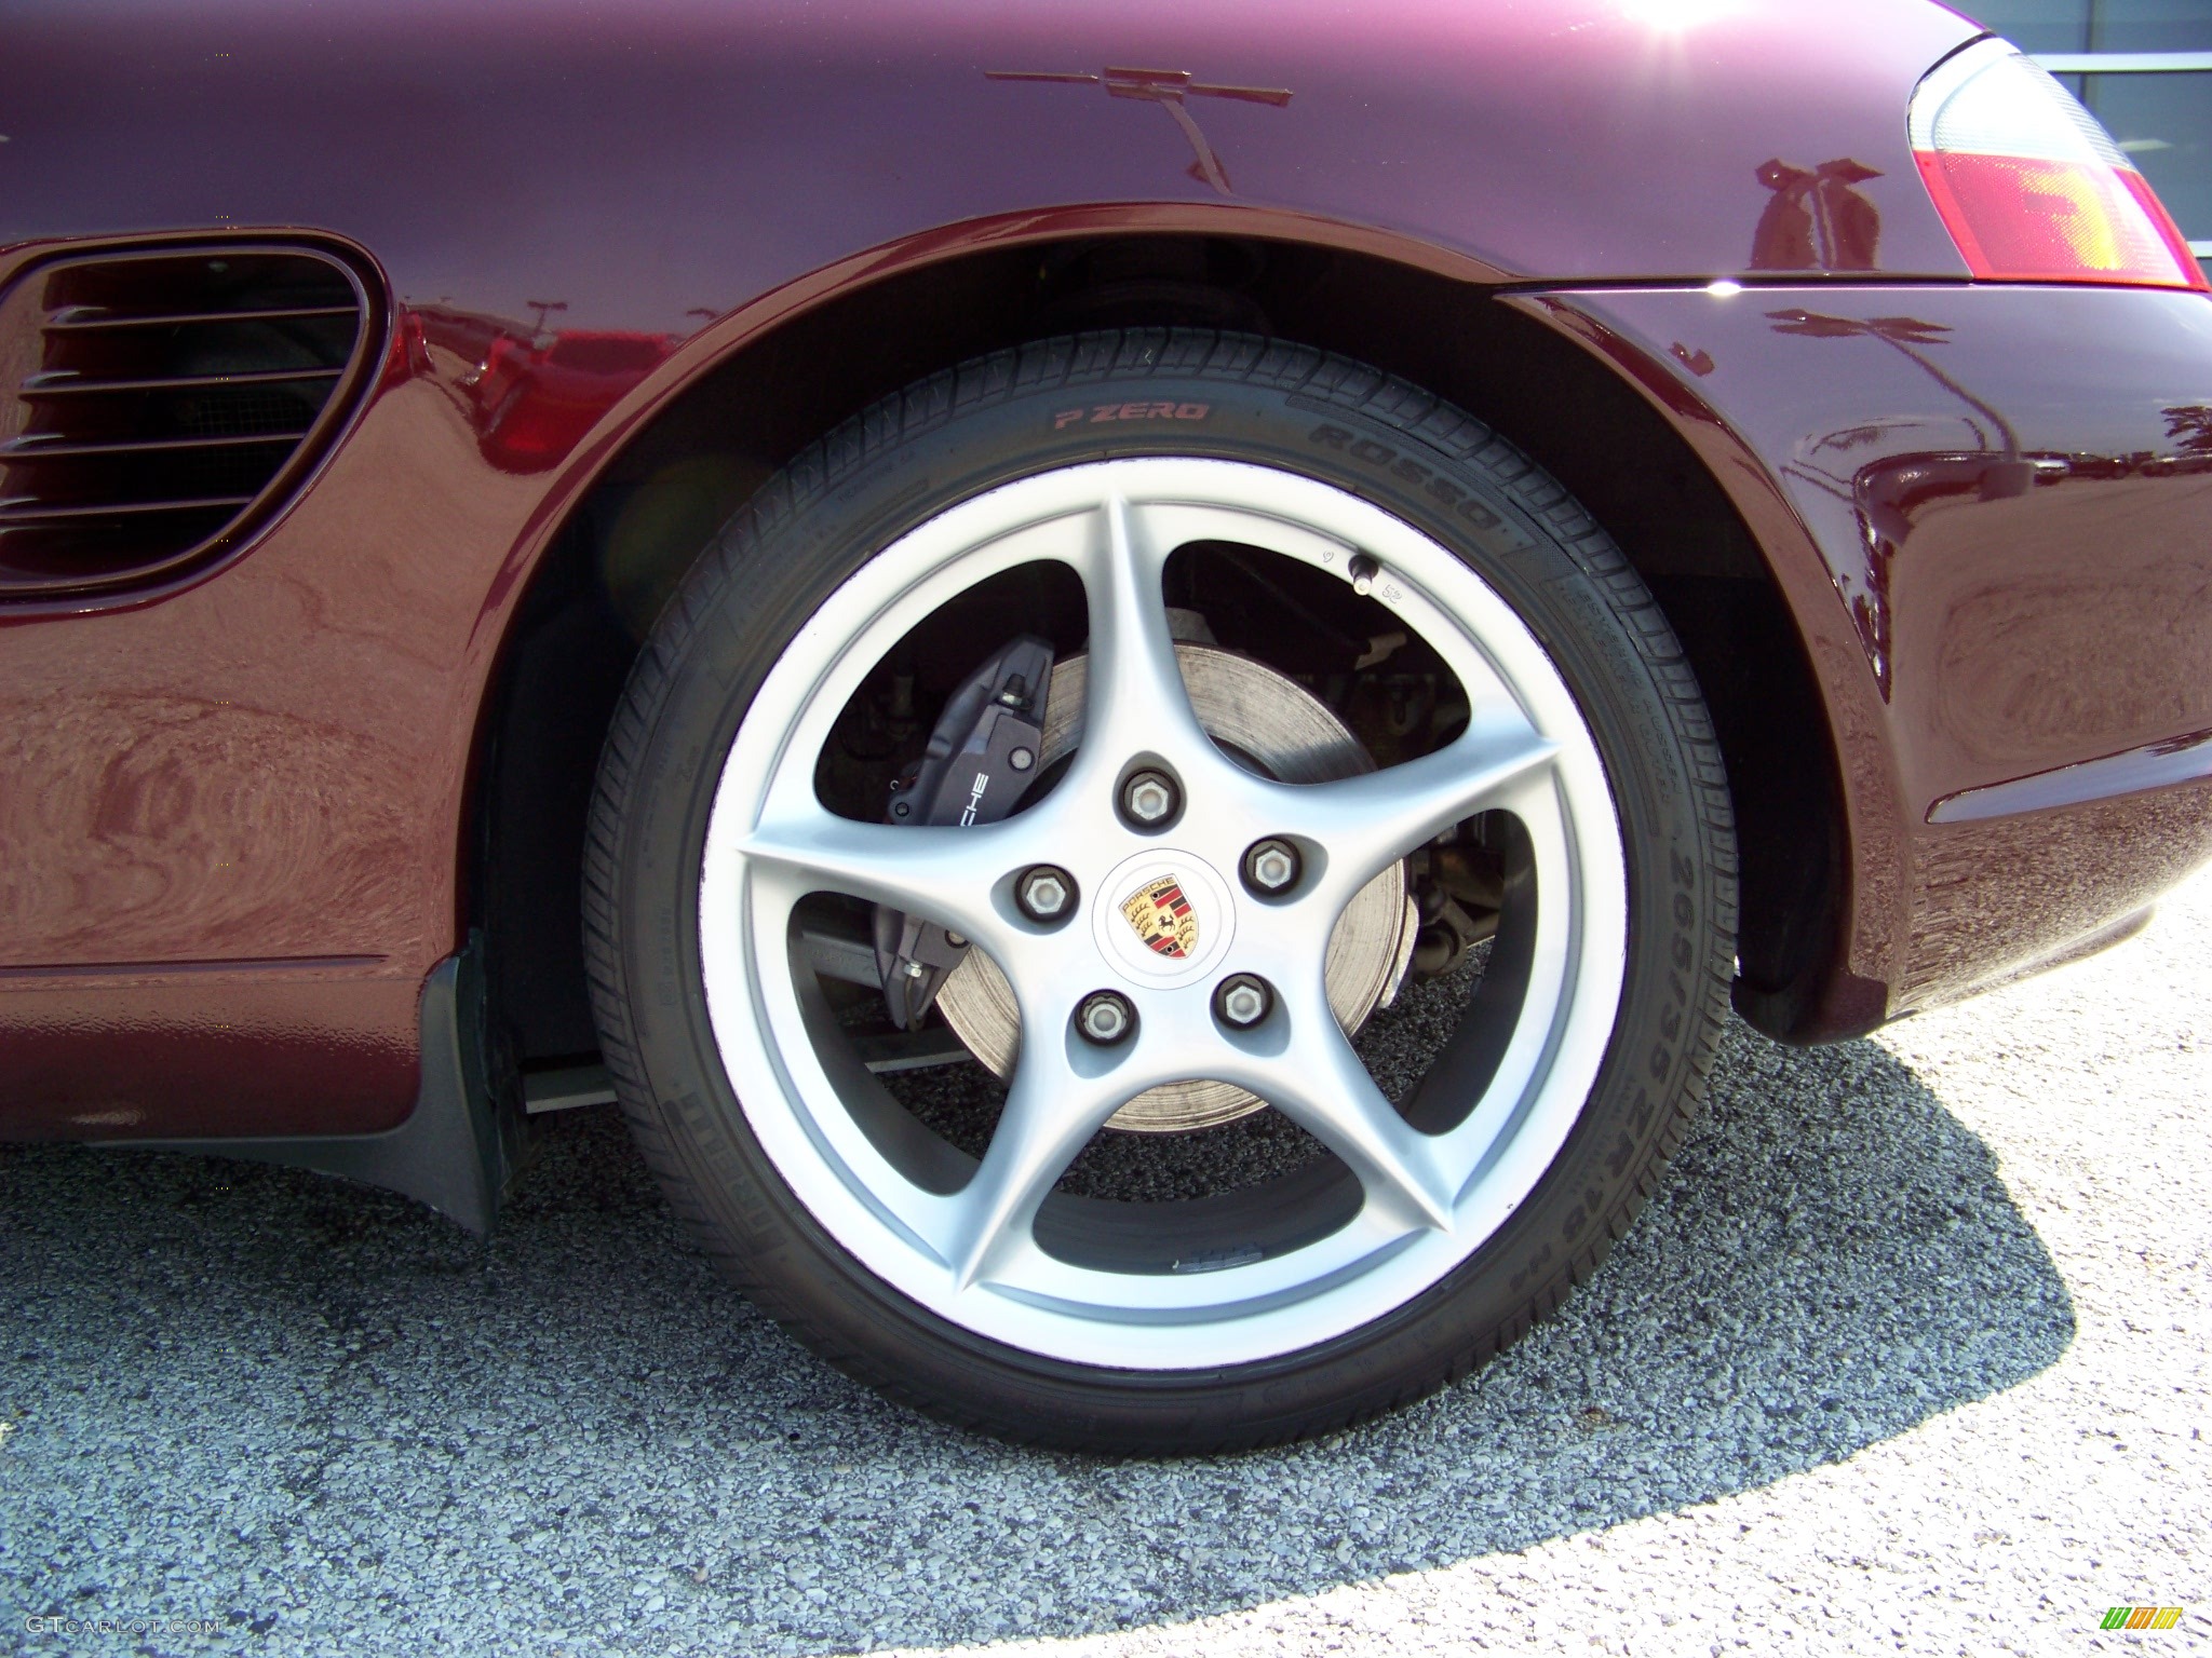
[[[1146,535],[1141,506],[1119,495],[1099,504],[1082,566],[1091,608],[1082,754],[1097,756],[1095,765],[1119,767],[1146,749],[1197,765],[1214,752],[1190,710],[1168,632],[1159,584],[1170,550]]]

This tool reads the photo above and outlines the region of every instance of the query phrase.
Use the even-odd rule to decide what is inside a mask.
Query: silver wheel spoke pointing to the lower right
[[[1245,1063],[1234,1081],[1250,1088],[1340,1156],[1367,1203],[1402,1227],[1451,1231],[1458,1192],[1440,1163],[1440,1145],[1411,1127],[1352,1050],[1323,995],[1290,1008],[1292,1037],[1283,1052]]]

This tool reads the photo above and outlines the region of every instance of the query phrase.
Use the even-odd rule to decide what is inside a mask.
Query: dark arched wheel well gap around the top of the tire
[[[613,460],[531,577],[487,710],[473,922],[524,1061],[597,1046],[580,886],[599,741],[697,550],[785,460],[933,369],[1044,334],[1234,327],[1343,351],[1491,422],[1650,584],[1719,727],[1743,856],[1741,997],[1776,1035],[1834,957],[1843,809],[1796,626],[1690,447],[1582,347],[1371,254],[1219,237],[1006,248],[883,279],[745,345]]]

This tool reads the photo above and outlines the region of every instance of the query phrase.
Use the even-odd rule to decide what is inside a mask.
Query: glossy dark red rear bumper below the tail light
[[[2212,858],[2212,298],[1526,296],[1705,458],[1790,601],[1849,833],[1785,1035],[1969,995]]]

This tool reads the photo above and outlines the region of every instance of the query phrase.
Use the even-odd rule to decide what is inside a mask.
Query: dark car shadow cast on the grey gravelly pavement
[[[491,1242],[285,1169],[0,1147],[0,1609],[347,1654],[1181,1623],[1763,1486],[2073,1337],[1989,1147],[1869,1041],[1732,1026],[1559,1318],[1354,1433],[1172,1463],[887,1406],[714,1280],[611,1110],[542,1127]]]

